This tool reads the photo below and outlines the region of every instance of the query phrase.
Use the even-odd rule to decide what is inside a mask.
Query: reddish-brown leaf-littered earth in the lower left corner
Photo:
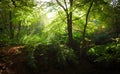
[[[0,74],[30,74],[24,66],[25,46],[10,46],[0,48]]]

